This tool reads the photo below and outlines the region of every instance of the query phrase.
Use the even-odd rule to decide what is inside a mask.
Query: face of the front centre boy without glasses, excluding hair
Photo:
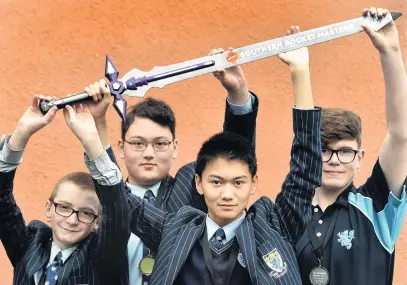
[[[240,160],[215,158],[209,162],[202,177],[195,176],[198,192],[204,195],[209,217],[219,226],[239,218],[249,198],[256,191],[257,175]]]

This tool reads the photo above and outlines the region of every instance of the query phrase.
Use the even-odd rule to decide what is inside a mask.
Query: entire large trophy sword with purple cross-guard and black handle
[[[123,95],[143,97],[153,87],[163,88],[168,84],[212,73],[217,69],[240,65],[283,52],[353,35],[363,31],[362,24],[367,24],[375,31],[378,31],[392,20],[398,19],[401,15],[399,12],[393,12],[378,18],[368,13],[366,16],[255,43],[221,54],[204,56],[162,67],[154,67],[148,72],[135,68],[126,73],[121,79],[119,79],[119,71],[110,58],[106,56],[105,75],[110,82],[109,88],[114,96],[113,106],[121,119],[126,122],[127,102]],[[40,109],[45,114],[54,106],[61,109],[66,105],[80,103],[90,98],[86,92],[83,92],[54,101],[41,101]]]

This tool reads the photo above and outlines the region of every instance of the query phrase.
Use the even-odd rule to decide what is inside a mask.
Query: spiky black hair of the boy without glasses
[[[202,177],[208,163],[216,158],[239,160],[249,167],[252,177],[257,173],[257,159],[251,143],[232,132],[218,133],[203,143],[196,159],[195,173]]]

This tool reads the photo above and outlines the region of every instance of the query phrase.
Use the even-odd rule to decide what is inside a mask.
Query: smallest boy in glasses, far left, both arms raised
[[[120,171],[103,149],[86,105],[67,106],[64,116],[87,153],[91,175],[70,173],[57,182],[45,204],[49,226],[25,224],[13,195],[16,168],[30,137],[57,111],[43,116],[40,99],[44,97],[34,97],[14,133],[0,142],[0,235],[14,267],[13,284],[126,285],[128,203]]]

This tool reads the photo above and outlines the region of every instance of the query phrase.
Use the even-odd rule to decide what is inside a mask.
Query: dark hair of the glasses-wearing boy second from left
[[[122,121],[122,140],[135,118],[146,118],[163,127],[168,127],[175,139],[175,115],[171,107],[162,100],[147,98],[129,109],[126,123]]]

